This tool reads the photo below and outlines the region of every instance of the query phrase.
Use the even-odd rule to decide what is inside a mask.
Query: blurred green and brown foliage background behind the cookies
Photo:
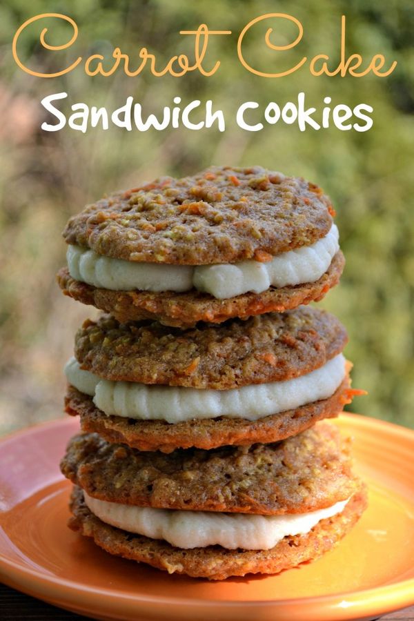
[[[60,78],[31,77],[11,52],[14,32],[43,12],[68,14],[79,25],[68,50],[45,52],[33,24],[19,40],[19,55],[31,68],[53,72],[78,56],[110,57],[115,46],[138,63],[142,46],[160,66],[179,52],[192,55],[193,30],[199,23],[232,30],[213,37],[206,66],[221,60],[213,77],[197,72],[181,78],[155,78],[147,70],[135,78],[121,71],[110,78],[87,77],[81,68]],[[303,55],[324,53],[333,66],[339,59],[340,18],[347,17],[346,50],[368,63],[382,53],[386,66],[397,60],[390,77],[313,77],[307,67],[281,79],[247,72],[237,59],[237,37],[254,17],[286,12],[304,26],[304,37],[285,57],[266,52],[268,23],[246,38],[246,57],[262,58],[268,70],[293,66]],[[48,41],[61,44],[72,32],[50,20]],[[210,164],[260,164],[321,185],[337,209],[337,223],[347,265],[342,282],[322,303],[347,326],[346,349],[353,360],[353,386],[366,388],[353,410],[414,425],[413,285],[414,255],[414,51],[410,46],[410,0],[9,0],[0,6],[0,433],[61,415],[65,382],[61,368],[72,351],[81,320],[91,307],[64,298],[55,284],[66,247],[60,233],[66,219],[88,201],[117,188],[137,186],[158,175],[186,175]],[[295,39],[295,27],[275,23],[275,41]],[[164,63],[163,63],[164,61]],[[132,65],[135,63],[132,62]],[[110,63],[107,64],[107,67]],[[365,65],[366,66],[366,65]],[[308,106],[332,103],[374,107],[374,126],[364,133],[335,126],[299,132],[277,124],[246,132],[234,121],[240,103],[253,99],[295,101],[306,92]],[[68,92],[61,109],[78,101],[114,110],[128,95],[144,111],[161,112],[180,96],[183,103],[213,99],[226,112],[226,132],[183,127],[162,132],[127,132],[110,127],[86,134],[66,127],[43,132],[46,117],[40,100]],[[259,119],[258,119],[259,120]],[[48,119],[49,122],[50,119]]]

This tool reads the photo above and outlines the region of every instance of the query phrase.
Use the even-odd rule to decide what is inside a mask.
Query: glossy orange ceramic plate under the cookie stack
[[[414,432],[357,415],[369,508],[322,559],[274,576],[208,582],[101,551],[66,527],[70,484],[58,463],[77,421],[58,420],[0,442],[0,579],[97,619],[336,621],[374,619],[414,603]]]

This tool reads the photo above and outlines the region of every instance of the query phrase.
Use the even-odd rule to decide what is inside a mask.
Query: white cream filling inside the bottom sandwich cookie
[[[320,520],[341,513],[349,500],[309,513],[252,515],[153,509],[83,494],[90,511],[102,522],[150,539],[163,539],[181,549],[219,545],[228,550],[270,550],[284,537],[305,535]]]

